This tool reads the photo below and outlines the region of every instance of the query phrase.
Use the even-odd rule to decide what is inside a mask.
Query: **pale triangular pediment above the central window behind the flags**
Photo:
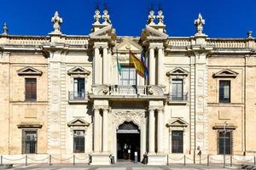
[[[118,50],[120,53],[129,53],[129,49],[134,53],[140,53],[143,50],[137,42],[132,41],[131,39],[125,39],[113,48],[113,51]]]

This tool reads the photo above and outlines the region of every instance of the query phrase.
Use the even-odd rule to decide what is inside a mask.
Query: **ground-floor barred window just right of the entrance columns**
[[[183,131],[172,131],[172,153],[183,153]]]

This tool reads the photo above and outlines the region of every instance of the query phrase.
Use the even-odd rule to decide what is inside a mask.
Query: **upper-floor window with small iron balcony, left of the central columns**
[[[85,97],[84,78],[74,78],[73,93],[74,93],[74,96],[73,96],[74,99],[84,99]]]

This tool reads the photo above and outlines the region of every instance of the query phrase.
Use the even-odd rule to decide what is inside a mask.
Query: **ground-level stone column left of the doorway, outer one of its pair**
[[[100,110],[94,110],[94,136],[93,136],[93,145],[94,152],[100,152]]]

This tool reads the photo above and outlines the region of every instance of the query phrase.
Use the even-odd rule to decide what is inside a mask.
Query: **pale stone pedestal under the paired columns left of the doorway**
[[[110,154],[109,153],[92,153],[90,155],[90,165],[110,165]]]

